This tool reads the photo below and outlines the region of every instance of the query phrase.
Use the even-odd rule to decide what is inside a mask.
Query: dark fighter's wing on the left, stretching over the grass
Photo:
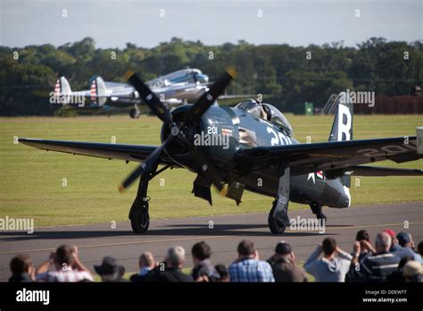
[[[19,139],[19,142],[30,147],[57,151],[73,155],[88,155],[106,159],[120,159],[127,161],[143,162],[152,154],[156,146],[104,144],[82,141],[44,140],[44,139]],[[162,155],[159,164],[175,164],[170,157]]]

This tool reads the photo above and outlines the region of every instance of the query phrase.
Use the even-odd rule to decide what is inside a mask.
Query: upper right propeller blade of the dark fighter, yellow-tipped
[[[233,67],[228,70],[220,77],[219,80],[214,82],[209,91],[205,92],[195,104],[187,111],[184,117],[184,123],[190,124],[200,119],[200,117],[213,105],[214,101],[223,93],[225,88],[228,86],[230,80],[236,78],[236,70]]]

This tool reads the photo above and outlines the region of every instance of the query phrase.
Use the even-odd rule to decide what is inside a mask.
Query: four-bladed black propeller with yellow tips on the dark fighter
[[[198,122],[203,113],[205,113],[220,96],[220,94],[223,93],[230,80],[235,79],[235,77],[236,70],[234,68],[229,68],[219,80],[216,80],[216,82],[211,85],[211,88],[198,98],[195,104],[187,111],[184,121],[181,124],[181,128],[187,127],[194,122]],[[176,123],[172,122],[171,113],[166,105],[164,105],[160,99],[154,95],[150,88],[148,88],[145,83],[137,77],[136,73],[129,72],[127,74],[127,78],[133,87],[137,89],[139,96],[145,101],[145,104],[148,105],[153,113],[155,113],[162,122],[170,123],[171,130],[169,137],[162,143],[162,145],[157,147],[153,153],[147,157],[145,162],[138,165],[137,168],[122,182],[119,186],[120,192],[124,189],[128,189],[138,177],[150,178],[149,175],[157,166],[163,150],[169,145],[172,139],[178,139],[184,147],[187,147],[187,150],[193,157],[194,163],[201,169],[200,173],[220,190],[220,194],[222,196],[225,196],[228,187],[226,187],[227,185],[225,185],[224,181],[221,180],[219,172],[210,163],[207,157],[195,148],[193,142],[185,139],[185,136],[181,132],[181,128],[179,128]]]

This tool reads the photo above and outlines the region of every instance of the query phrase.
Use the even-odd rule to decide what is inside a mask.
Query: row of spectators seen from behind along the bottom
[[[139,256],[137,273],[126,277],[118,261],[105,256],[94,271],[101,282],[421,282],[423,242],[417,249],[411,234],[391,229],[377,233],[374,244],[368,231],[358,231],[352,253],[327,238],[303,265],[296,262],[293,248],[280,241],[268,260],[261,260],[250,240],[242,240],[237,256],[228,265],[213,265],[212,251],[204,241],[191,248],[192,269],[187,269],[186,250],[168,249],[159,262],[146,251]],[[91,271],[79,260],[76,246],[62,245],[34,267],[27,255],[14,256],[9,282],[93,282]],[[189,271],[189,273],[188,273]],[[309,273],[309,276],[308,274]],[[311,276],[310,276],[311,275]]]

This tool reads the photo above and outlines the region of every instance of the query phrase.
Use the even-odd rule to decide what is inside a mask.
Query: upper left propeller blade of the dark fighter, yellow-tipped
[[[137,73],[128,71],[125,78],[127,78],[129,83],[137,89],[139,96],[145,101],[145,104],[150,107],[153,113],[157,115],[162,122],[171,120],[169,109],[154,95],[153,91],[138,78]]]

